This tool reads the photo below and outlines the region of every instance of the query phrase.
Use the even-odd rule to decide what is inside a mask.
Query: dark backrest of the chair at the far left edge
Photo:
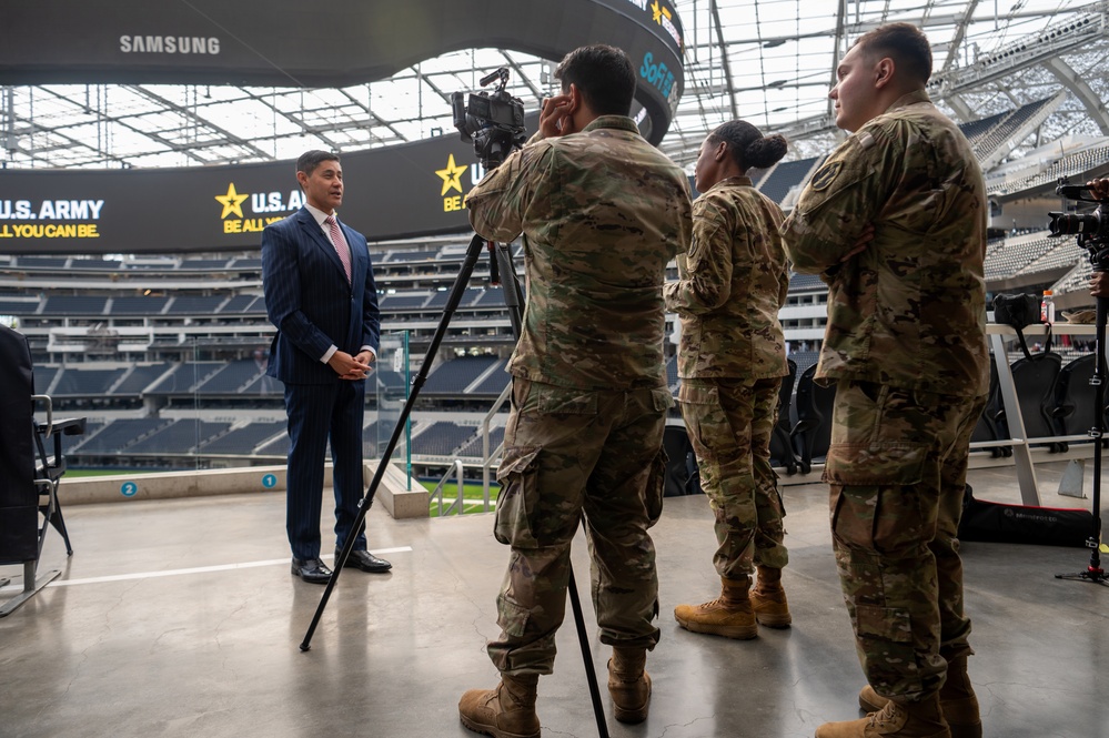
[[[39,556],[34,486],[31,352],[27,338],[0,325],[0,563]]]

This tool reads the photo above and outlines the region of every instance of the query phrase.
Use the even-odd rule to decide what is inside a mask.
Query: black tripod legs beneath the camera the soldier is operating
[[[359,503],[359,514],[351,526],[351,530],[361,530],[362,525],[365,523],[370,507],[373,505],[374,495],[376,494],[377,487],[381,485],[381,479],[385,474],[385,467],[389,465],[393,451],[396,448],[401,434],[404,432],[404,423],[409,418],[409,415],[412,414],[412,406],[415,404],[416,397],[420,395],[420,390],[427,380],[432,362],[435,358],[435,354],[438,352],[443,337],[446,335],[446,330],[451,324],[451,319],[454,316],[454,312],[457,310],[458,303],[462,302],[462,295],[465,293],[466,287],[470,284],[470,277],[473,274],[474,266],[477,264],[477,260],[481,257],[482,251],[486,249],[487,243],[492,246],[492,242],[485,241],[485,239],[476,233],[470,241],[470,246],[466,249],[466,256],[462,262],[462,269],[458,271],[458,276],[455,279],[454,285],[451,287],[451,293],[447,296],[446,306],[443,309],[443,316],[440,319],[438,327],[435,328],[435,334],[432,336],[431,344],[427,346],[427,353],[424,356],[423,363],[420,365],[420,371],[412,380],[412,391],[409,394],[407,401],[404,403],[401,416],[396,421],[396,426],[393,428],[393,435],[390,437],[389,444],[386,444],[385,451],[382,452],[381,459],[377,462],[377,471],[374,473],[373,479],[370,482],[370,487],[366,489],[365,496]],[[490,257],[491,281],[494,283],[497,281],[502,282],[504,302],[505,306],[508,309],[510,320],[512,322],[512,332],[518,341],[523,322],[523,307],[521,300],[523,293],[520,289],[520,282],[516,280],[516,270],[512,263],[512,252],[510,251],[507,244],[497,244]],[[498,273],[503,275],[502,280],[498,280]],[[356,537],[357,536],[355,535],[346,537],[343,550],[335,559],[334,572],[331,575],[331,579],[327,582],[327,587],[324,589],[323,597],[320,599],[320,605],[316,607],[315,615],[312,617],[312,623],[309,625],[308,633],[304,634],[304,640],[301,643],[300,648],[302,651],[306,651],[312,647],[312,636],[315,633],[316,626],[320,624],[320,618],[323,616],[323,610],[327,606],[327,600],[331,599],[331,593],[334,590],[335,584],[339,582],[339,576],[343,572],[343,566],[346,564],[346,559],[350,557],[351,552],[354,548],[354,540]],[[589,696],[593,699],[593,711],[597,719],[597,731],[601,738],[608,738],[608,725],[605,721],[604,706],[601,701],[601,688],[597,686],[597,674],[593,664],[593,651],[589,648],[589,638],[585,631],[585,618],[582,614],[582,600],[577,592],[577,583],[574,579],[573,567],[569,569],[569,583],[567,588],[569,590],[571,606],[574,611],[574,621],[577,625],[577,638],[582,646],[582,658],[585,661],[585,675],[589,683]]]

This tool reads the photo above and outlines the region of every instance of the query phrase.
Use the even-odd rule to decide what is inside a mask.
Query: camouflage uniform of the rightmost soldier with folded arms
[[[899,700],[970,653],[956,534],[989,383],[986,218],[969,143],[921,90],[833,152],[783,225],[794,269],[829,285],[816,376],[838,382],[836,559],[867,679]]]

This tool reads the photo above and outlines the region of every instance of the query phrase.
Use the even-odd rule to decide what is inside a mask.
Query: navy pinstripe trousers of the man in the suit
[[[320,556],[320,508],[329,438],[334,466],[335,547],[342,548],[351,534],[364,492],[364,381],[336,377],[329,384],[285,384],[291,441],[285,479],[285,528],[296,558]],[[354,550],[364,550],[364,525],[356,535]]]

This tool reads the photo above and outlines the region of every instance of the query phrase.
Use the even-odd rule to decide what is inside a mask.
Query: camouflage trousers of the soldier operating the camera
[[[512,546],[488,644],[508,674],[551,674],[571,542],[585,519],[601,643],[654,648],[666,388],[583,391],[513,378],[494,535]]]

